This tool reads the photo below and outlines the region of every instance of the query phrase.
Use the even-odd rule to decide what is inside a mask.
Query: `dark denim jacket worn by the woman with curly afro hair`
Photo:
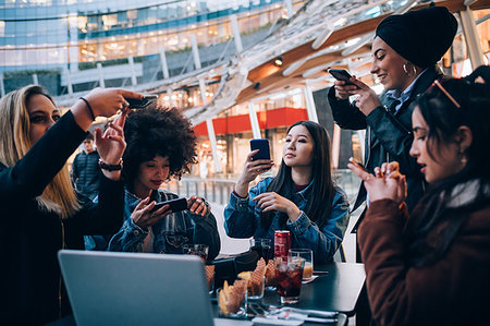
[[[152,200],[158,203],[176,197],[177,195],[173,193],[159,190]],[[138,197],[126,190],[124,224],[110,240],[109,251],[140,252],[143,250],[143,241],[148,236],[148,231],[139,228],[131,218],[131,214],[139,201]],[[168,233],[164,230],[164,224],[168,218],[177,220],[183,226],[183,231],[174,234]],[[179,249],[183,244],[200,243],[209,246],[208,259],[213,259],[220,251],[220,236],[216,218],[210,210],[208,210],[206,216],[196,215],[188,210],[172,213],[154,225],[151,232],[154,234],[152,252],[155,253],[179,253]]]

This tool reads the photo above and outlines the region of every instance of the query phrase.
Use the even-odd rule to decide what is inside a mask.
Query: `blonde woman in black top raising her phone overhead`
[[[127,101],[122,89],[94,89],[61,117],[40,86],[0,100],[0,241],[2,323],[38,325],[70,313],[57,252],[83,249],[84,234],[115,232],[122,224],[121,157]],[[95,117],[123,109],[96,144],[105,174],[100,203],[75,193],[65,165]]]

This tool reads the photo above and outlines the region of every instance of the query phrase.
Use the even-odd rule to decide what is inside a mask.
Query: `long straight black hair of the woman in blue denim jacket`
[[[330,137],[327,130],[313,121],[298,121],[287,129],[287,133],[293,126],[303,125],[311,135],[314,142],[313,169],[313,189],[311,197],[308,200],[305,213],[309,219],[322,227],[332,208],[333,182],[330,164]],[[279,195],[291,200],[295,193],[295,184],[291,176],[291,168],[281,160],[281,167],[278,174],[267,188],[267,192],[275,192]],[[260,214],[260,227],[269,229],[274,218],[275,210]],[[280,226],[285,227],[287,215],[280,214]]]

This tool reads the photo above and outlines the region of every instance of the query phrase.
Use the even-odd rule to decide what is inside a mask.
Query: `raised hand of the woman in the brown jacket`
[[[347,167],[363,179],[369,201],[392,200],[399,205],[405,201],[406,179],[400,173],[397,162],[383,164],[381,168],[376,168],[376,176],[368,173],[352,158]]]

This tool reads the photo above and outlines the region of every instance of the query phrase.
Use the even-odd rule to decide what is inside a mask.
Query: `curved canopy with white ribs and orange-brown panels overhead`
[[[473,10],[490,8],[489,0],[470,1]],[[267,38],[226,64],[218,64],[191,79],[220,80],[215,98],[186,114],[197,124],[236,104],[253,101],[286,89],[324,88],[333,82],[329,68],[347,69],[365,80],[369,74],[370,45],[376,26],[392,13],[428,7],[419,1],[310,0]],[[451,12],[466,9],[464,0],[437,1]],[[282,64],[275,60],[282,60]],[[181,83],[191,82],[180,81]],[[369,81],[368,81],[369,82]]]

